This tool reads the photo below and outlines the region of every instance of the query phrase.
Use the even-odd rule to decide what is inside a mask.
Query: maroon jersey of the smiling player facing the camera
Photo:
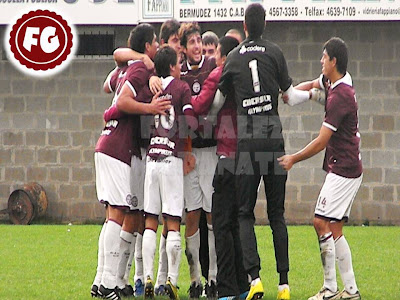
[[[182,63],[181,79],[189,84],[192,96],[200,94],[204,81],[215,67],[215,59],[204,55],[198,65],[190,65],[187,61]],[[199,124],[199,130],[196,132],[197,137],[192,140],[193,148],[215,146],[217,143],[213,139],[212,125],[202,119],[200,119]]]

